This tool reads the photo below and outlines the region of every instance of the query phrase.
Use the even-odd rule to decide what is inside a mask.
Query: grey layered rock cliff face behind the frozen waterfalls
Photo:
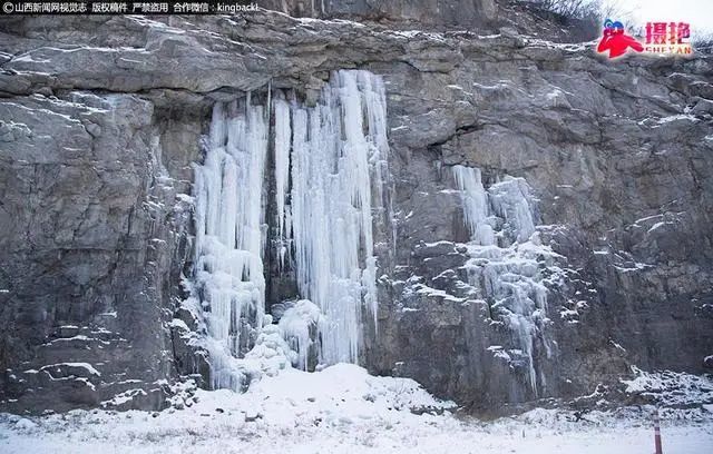
[[[158,407],[205,375],[179,302],[211,107],[268,83],[310,103],[344,68],[381,75],[388,101],[370,369],[491,408],[712,366],[710,58],[272,12],[0,27],[3,408]],[[473,244],[456,165],[480,170],[497,250]],[[512,241],[517,204],[537,239]],[[512,306],[540,285],[539,312]]]

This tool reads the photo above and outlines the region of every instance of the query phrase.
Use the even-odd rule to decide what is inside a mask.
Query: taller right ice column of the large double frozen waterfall
[[[380,213],[385,95],[367,71],[339,71],[314,108],[292,108],[291,221],[297,286],[323,313],[321,359],[355,363],[362,307],[375,323],[372,211]]]

